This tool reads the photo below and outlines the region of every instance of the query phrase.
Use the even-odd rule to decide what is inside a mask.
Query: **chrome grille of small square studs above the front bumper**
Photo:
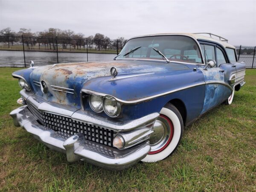
[[[31,111],[31,113],[37,119],[38,123],[47,128],[71,135],[82,133],[84,134],[84,139],[86,140],[113,146],[113,130],[73,120],[70,117],[39,111],[29,102],[27,103],[27,106],[29,111]]]

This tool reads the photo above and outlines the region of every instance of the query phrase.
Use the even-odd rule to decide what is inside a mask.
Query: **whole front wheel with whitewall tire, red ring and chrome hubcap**
[[[183,134],[183,120],[180,112],[174,105],[168,103],[160,111],[149,144],[151,151],[141,160],[143,162],[156,162],[172,154],[180,143]]]

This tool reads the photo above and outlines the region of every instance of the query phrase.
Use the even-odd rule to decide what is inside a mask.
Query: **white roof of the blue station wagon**
[[[236,49],[236,47],[234,47],[233,45],[228,44],[226,41],[220,41],[218,39],[215,38],[211,38],[211,37],[207,37],[205,35],[200,35],[200,34],[195,34],[195,33],[160,33],[160,34],[152,34],[152,35],[142,35],[142,36],[137,36],[137,37],[133,37],[133,38],[138,38],[138,37],[148,37],[148,36],[156,36],[156,35],[185,35],[185,36],[189,36],[192,37],[194,39],[204,39],[204,40],[209,40],[209,41],[214,41],[218,44],[221,44],[223,47],[230,47],[233,49]],[[133,39],[131,38],[131,39]]]

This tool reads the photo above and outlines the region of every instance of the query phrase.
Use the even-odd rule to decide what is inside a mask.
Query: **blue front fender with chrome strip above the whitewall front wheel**
[[[186,122],[195,119],[204,102],[204,75],[200,70],[155,72],[113,81],[101,77],[87,81],[83,90],[104,93],[122,102],[122,118],[137,119],[157,112],[172,99],[180,99],[187,111]]]

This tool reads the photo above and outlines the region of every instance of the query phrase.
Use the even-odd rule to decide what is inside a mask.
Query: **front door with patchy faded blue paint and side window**
[[[209,59],[216,61],[214,67],[201,69],[204,73],[204,80],[206,83],[204,105],[201,111],[201,114],[203,114],[209,109],[224,102],[224,100],[231,95],[232,89],[228,83],[229,75],[231,71],[233,69],[236,70],[236,68],[232,69],[231,66],[227,65],[227,58],[222,50],[215,44],[201,44],[201,49],[204,60],[206,61],[205,63],[207,63]]]

